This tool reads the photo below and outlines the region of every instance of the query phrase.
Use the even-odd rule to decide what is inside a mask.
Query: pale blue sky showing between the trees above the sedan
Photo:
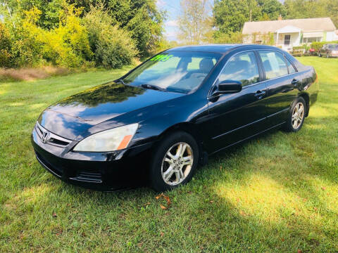
[[[284,0],[279,1],[284,2]],[[177,40],[177,18],[180,15],[180,0],[157,0],[157,6],[161,10],[167,11],[168,16],[164,23],[165,37],[168,41]]]

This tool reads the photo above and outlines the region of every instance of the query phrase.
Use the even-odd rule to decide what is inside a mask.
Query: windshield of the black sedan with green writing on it
[[[199,87],[220,57],[220,53],[163,52],[137,67],[122,81],[146,89],[188,93]]]

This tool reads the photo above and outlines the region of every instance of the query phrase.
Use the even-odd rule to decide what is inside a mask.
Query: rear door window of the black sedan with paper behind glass
[[[266,79],[282,77],[288,74],[287,64],[282,53],[275,51],[258,51],[263,61]]]

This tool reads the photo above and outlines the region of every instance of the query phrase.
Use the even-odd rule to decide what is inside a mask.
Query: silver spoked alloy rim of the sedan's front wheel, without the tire
[[[182,183],[192,170],[194,154],[187,143],[172,145],[163,157],[161,174],[163,181],[170,186]]]

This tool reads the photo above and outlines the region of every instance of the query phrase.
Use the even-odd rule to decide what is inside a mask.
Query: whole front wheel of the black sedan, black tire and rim
[[[180,147],[183,153],[179,152]],[[172,190],[192,179],[199,163],[199,145],[190,134],[184,131],[170,134],[156,146],[154,152],[149,171],[151,188],[158,192]],[[190,162],[189,157],[192,157]]]

